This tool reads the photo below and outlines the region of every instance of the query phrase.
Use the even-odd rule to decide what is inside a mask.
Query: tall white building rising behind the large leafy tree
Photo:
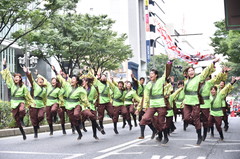
[[[113,30],[128,35],[126,43],[131,45],[133,58],[122,64],[120,74],[123,79],[129,80],[132,72],[138,78],[146,76],[147,62],[151,54],[150,40],[157,37],[148,29],[149,9],[158,16],[165,15],[165,11],[162,11],[165,4],[163,0],[158,2],[161,8],[156,4],[149,4],[150,2],[153,3],[148,0],[81,0],[78,4],[79,13],[107,14],[116,21]]]

